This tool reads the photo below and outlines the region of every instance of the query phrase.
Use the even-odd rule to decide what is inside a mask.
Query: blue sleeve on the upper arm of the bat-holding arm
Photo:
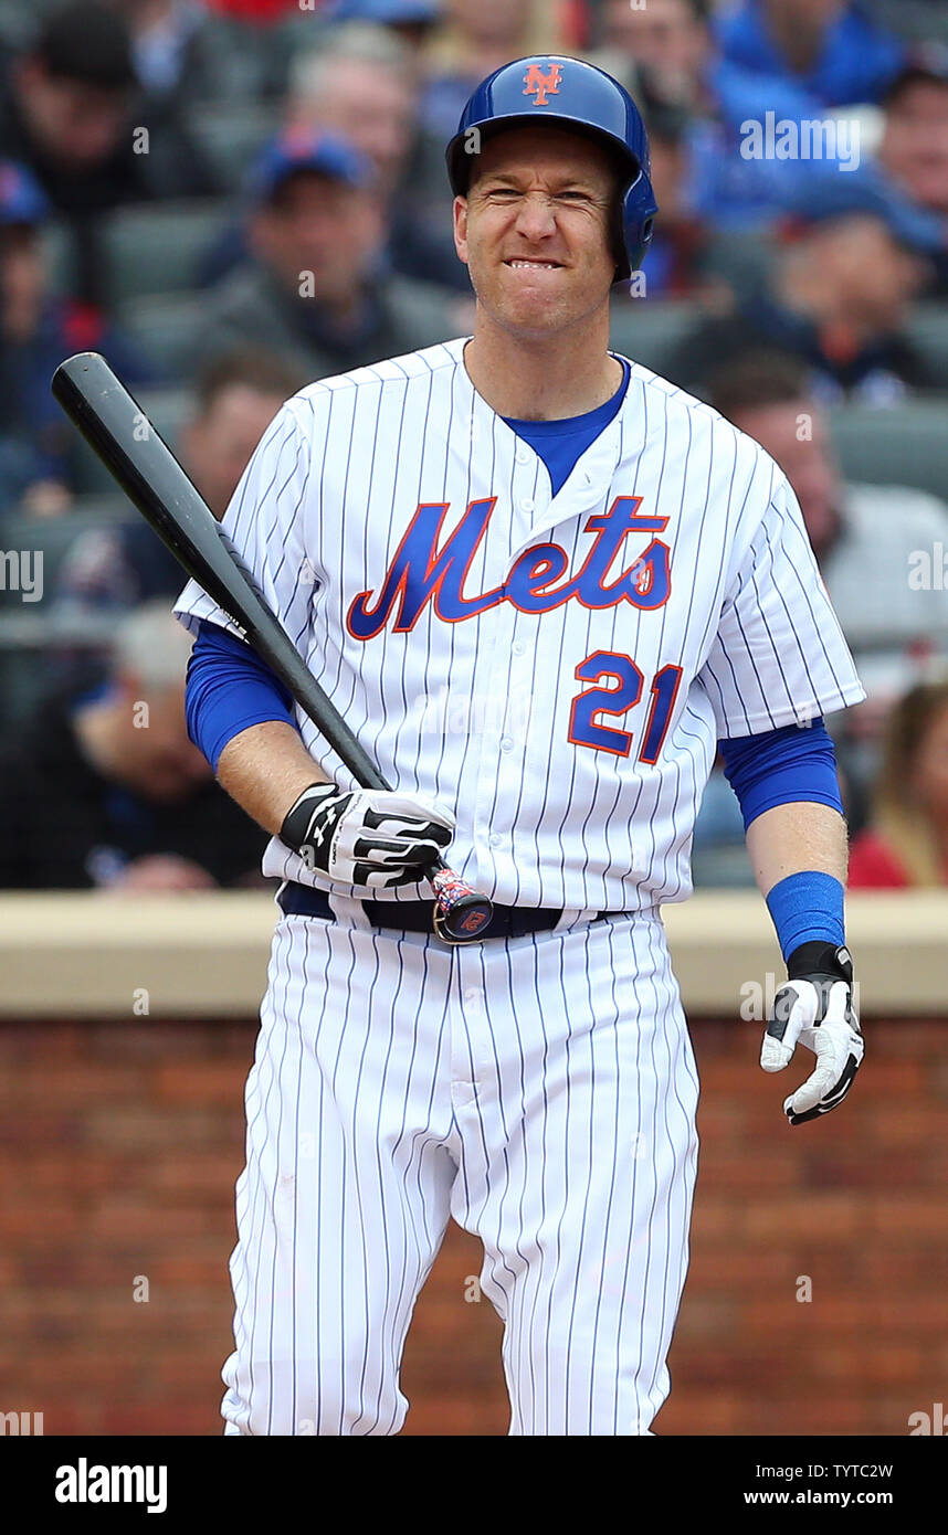
[[[266,662],[217,623],[201,620],[187,663],[187,734],[217,772],[235,735],[252,725],[283,720],[297,729],[292,697]]]

